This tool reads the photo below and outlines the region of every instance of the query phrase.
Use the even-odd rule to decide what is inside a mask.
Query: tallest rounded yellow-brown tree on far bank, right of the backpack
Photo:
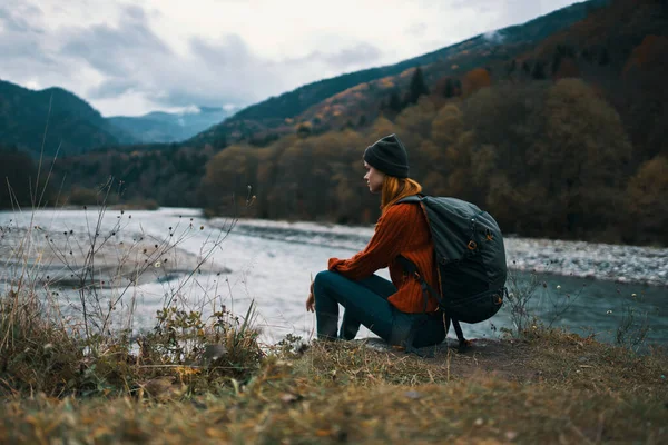
[[[546,119],[532,151],[556,222],[574,236],[613,225],[631,156],[619,115],[583,81],[562,79],[550,88]]]

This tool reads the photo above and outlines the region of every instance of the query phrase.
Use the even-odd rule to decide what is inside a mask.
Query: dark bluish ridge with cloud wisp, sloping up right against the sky
[[[351,72],[305,85],[243,109],[219,125],[195,136],[187,141],[187,145],[202,146],[209,144],[214,147],[220,147],[238,140],[262,141],[267,138],[272,140],[276,134],[294,131],[295,118],[298,118],[301,113],[347,89],[397,76],[399,85],[389,82],[383,89],[399,88],[407,85],[410,80],[407,76],[402,77],[401,75],[421,66],[446,62],[449,63],[446,67],[458,65],[456,70],[461,72],[494,60],[508,60],[512,56],[534,47],[548,36],[571,27],[596,9],[608,3],[609,0],[590,0],[576,3],[527,23],[480,34],[395,65]],[[470,57],[470,55],[474,55],[474,57]],[[453,58],[458,57],[462,60],[459,60],[458,63],[450,63]],[[448,70],[442,69],[440,73],[430,73],[430,76],[443,76]],[[382,85],[382,82],[379,85]],[[322,121],[322,119],[320,120]],[[299,119],[297,119],[297,123]],[[273,137],[272,134],[274,134]]]

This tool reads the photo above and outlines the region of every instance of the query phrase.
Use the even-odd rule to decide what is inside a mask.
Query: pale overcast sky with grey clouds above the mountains
[[[249,106],[572,0],[2,0],[0,79],[102,116]]]

